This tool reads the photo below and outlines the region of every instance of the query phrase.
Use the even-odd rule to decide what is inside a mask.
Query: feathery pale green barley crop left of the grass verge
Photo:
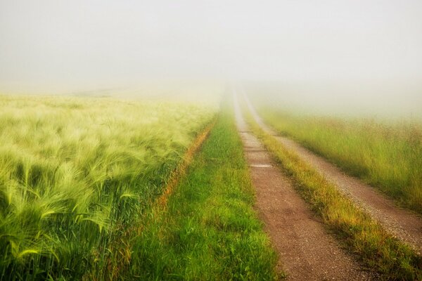
[[[0,97],[0,279],[113,277],[127,226],[215,108]],[[118,242],[116,246],[115,242]]]

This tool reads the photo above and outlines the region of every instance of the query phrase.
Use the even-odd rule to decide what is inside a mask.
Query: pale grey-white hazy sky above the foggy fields
[[[422,80],[421,0],[0,0],[0,91]]]

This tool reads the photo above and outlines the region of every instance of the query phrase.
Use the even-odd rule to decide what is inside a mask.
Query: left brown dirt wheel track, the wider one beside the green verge
[[[257,190],[257,210],[280,255],[288,280],[371,280],[328,235],[290,180],[276,168],[264,146],[250,133],[234,95],[236,122]]]

